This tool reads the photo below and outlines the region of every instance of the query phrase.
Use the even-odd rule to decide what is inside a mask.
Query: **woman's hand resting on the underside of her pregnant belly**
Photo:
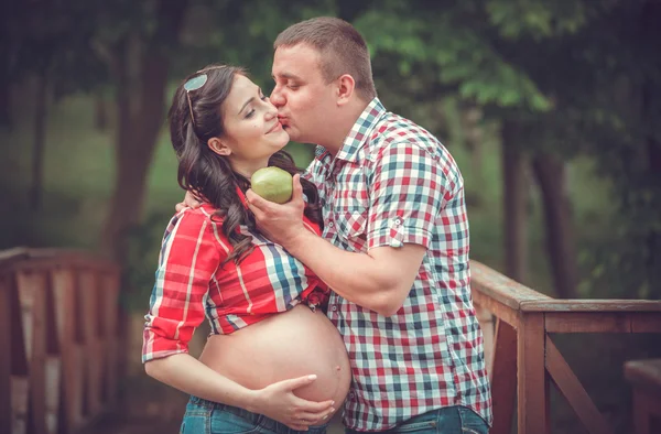
[[[307,426],[321,425],[335,412],[335,402],[306,401],[294,394],[296,389],[315,380],[316,376],[305,376],[256,390],[253,405],[248,410],[281,422],[292,430],[306,431]]]

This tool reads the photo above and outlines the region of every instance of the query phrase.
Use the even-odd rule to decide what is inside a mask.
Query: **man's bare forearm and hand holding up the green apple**
[[[247,193],[260,230],[310,267],[333,291],[359,306],[391,316],[402,306],[426,249],[420,245],[377,247],[354,253],[333,246],[304,228],[304,202],[299,175],[292,199],[279,205]]]

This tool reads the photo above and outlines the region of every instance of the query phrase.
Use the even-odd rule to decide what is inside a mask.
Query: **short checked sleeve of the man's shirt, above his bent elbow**
[[[368,174],[368,248],[430,245],[432,228],[452,197],[453,183],[442,162],[415,142],[379,149]]]

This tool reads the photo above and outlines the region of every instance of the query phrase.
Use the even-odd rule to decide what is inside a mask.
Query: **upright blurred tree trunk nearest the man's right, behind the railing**
[[[519,126],[502,123],[502,177],[505,214],[505,270],[510,278],[528,279],[528,176],[527,162],[518,149]]]

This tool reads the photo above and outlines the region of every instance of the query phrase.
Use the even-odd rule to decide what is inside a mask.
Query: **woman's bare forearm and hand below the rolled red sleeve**
[[[316,376],[300,377],[264,389],[250,390],[188,354],[150,360],[144,370],[150,377],[182,392],[263,414],[293,430],[304,431],[308,425],[319,424],[334,412],[333,401],[312,402],[294,394],[294,390],[312,383]]]

